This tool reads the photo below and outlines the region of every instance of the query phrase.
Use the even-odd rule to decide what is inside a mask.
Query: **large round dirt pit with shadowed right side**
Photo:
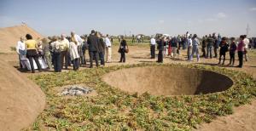
[[[122,69],[106,74],[103,80],[128,93],[154,95],[211,94],[233,85],[229,77],[213,71],[168,66]]]

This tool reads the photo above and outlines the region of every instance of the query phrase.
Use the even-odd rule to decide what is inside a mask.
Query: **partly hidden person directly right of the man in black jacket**
[[[99,56],[100,56],[100,60],[101,60],[101,65],[105,65],[105,46],[106,44],[104,43],[103,41],[103,38],[102,38],[102,35],[100,32],[96,32],[96,36],[98,37],[99,39]]]

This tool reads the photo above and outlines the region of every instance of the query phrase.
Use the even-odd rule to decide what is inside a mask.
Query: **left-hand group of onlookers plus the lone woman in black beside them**
[[[125,40],[122,39],[120,48],[125,48]],[[109,36],[103,36],[100,32],[92,30],[89,37],[79,36],[71,32],[67,37],[61,34],[61,37],[44,37],[43,39],[33,40],[30,34],[26,34],[26,39],[20,37],[17,43],[17,53],[20,58],[20,67],[27,68],[33,73],[34,61],[38,71],[42,71],[42,65],[46,63],[49,70],[54,68],[55,72],[61,72],[62,69],[68,68],[73,64],[73,70],[79,70],[79,65],[86,65],[85,51],[88,50],[90,56],[90,68],[93,67],[93,60],[96,66],[105,65],[105,52],[107,52],[107,61],[111,62],[112,43]],[[125,56],[121,51],[121,59],[125,62]],[[29,60],[26,65],[24,60]],[[121,61],[121,60],[120,60]]]

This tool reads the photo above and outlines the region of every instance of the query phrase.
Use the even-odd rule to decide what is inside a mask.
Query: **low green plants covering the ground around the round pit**
[[[215,71],[230,77],[234,85],[222,92],[195,96],[127,94],[101,79],[102,75],[137,66],[188,67]],[[256,96],[256,81],[239,71],[201,65],[139,64],[111,66],[33,76],[47,96],[46,109],[31,128],[34,130],[190,130],[201,122],[233,113],[233,107],[247,104]],[[56,88],[83,83],[96,89],[97,96],[64,98]],[[218,85],[217,85],[218,86]]]

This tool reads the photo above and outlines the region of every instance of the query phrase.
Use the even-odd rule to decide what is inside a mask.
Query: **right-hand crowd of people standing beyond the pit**
[[[201,45],[201,55],[200,47]],[[237,67],[242,67],[243,58],[248,60],[247,50],[253,47],[253,41],[247,38],[247,35],[241,35],[240,39],[236,42],[235,37],[221,37],[219,34],[216,36],[212,33],[208,36],[201,38],[201,41],[196,34],[192,35],[187,32],[185,35],[177,37],[167,37],[160,36],[156,39],[151,37],[150,39],[150,52],[151,58],[155,57],[155,47],[157,46],[159,50],[157,62],[162,63],[163,58],[170,55],[172,58],[178,58],[180,50],[187,50],[188,61],[192,61],[194,55],[196,55],[196,60],[200,61],[200,58],[212,59],[218,58],[218,64],[224,65],[225,56],[227,52],[230,52],[230,63],[229,65],[235,65],[235,55],[237,51],[239,65]],[[219,49],[218,49],[219,48]],[[219,52],[219,53],[218,53]],[[213,54],[214,53],[214,56]]]

